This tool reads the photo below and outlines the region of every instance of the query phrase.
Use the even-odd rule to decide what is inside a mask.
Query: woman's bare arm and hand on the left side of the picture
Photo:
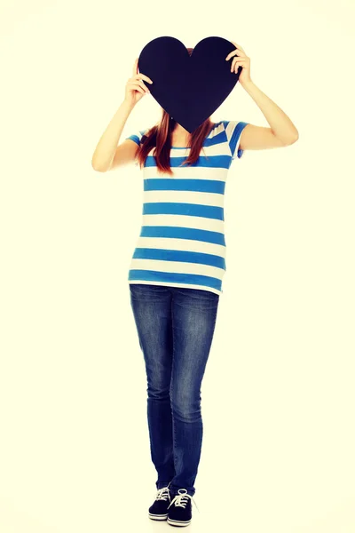
[[[152,83],[150,78],[142,73],[137,73],[137,65],[138,60],[135,61],[133,66],[133,76],[126,84],[125,98],[115,112],[111,122],[106,127],[106,130],[101,135],[99,143],[92,155],[91,166],[95,171],[111,171],[117,166],[133,162],[135,159],[138,149],[135,142],[126,139],[121,145],[117,145],[131,110],[146,92],[149,92],[146,84],[141,80],[144,79]]]

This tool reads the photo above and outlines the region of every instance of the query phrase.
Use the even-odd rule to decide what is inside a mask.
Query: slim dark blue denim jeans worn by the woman
[[[156,488],[193,483],[201,457],[201,381],[217,319],[210,290],[129,283],[147,378],[147,420]]]

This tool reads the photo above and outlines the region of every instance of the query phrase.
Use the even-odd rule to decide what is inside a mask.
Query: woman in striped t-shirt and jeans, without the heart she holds
[[[144,166],[143,221],[129,287],[146,364],[151,457],[158,473],[149,517],[177,526],[192,519],[201,457],[201,381],[225,274],[226,175],[244,150],[286,147],[298,138],[288,116],[251,81],[250,60],[233,44],[225,60],[233,58],[231,71],[241,68],[239,83],[269,128],[208,118],[189,134],[162,109],[159,123],[118,145],[131,110],[154,83],[138,73],[136,60],[125,99],[92,157],[96,171],[135,160]],[[187,50],[191,55],[193,49]]]

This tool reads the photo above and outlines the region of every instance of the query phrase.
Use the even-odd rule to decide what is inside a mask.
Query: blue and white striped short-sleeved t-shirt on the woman
[[[185,161],[189,147],[171,147],[173,176],[156,171],[152,147],[143,169],[142,227],[130,261],[129,283],[222,294],[225,183],[233,160],[243,154],[239,144],[247,124],[215,123],[193,165],[178,166]],[[126,139],[139,145],[146,131]]]

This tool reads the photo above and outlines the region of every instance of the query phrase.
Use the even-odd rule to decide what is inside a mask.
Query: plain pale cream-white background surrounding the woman
[[[0,15],[2,533],[170,528],[147,516],[127,282],[142,174],[91,169],[134,60],[164,35],[241,44],[299,131],[228,174],[188,529],[353,533],[354,4],[5,0]],[[160,113],[146,96],[121,140]],[[240,84],[211,118],[268,125]]]

